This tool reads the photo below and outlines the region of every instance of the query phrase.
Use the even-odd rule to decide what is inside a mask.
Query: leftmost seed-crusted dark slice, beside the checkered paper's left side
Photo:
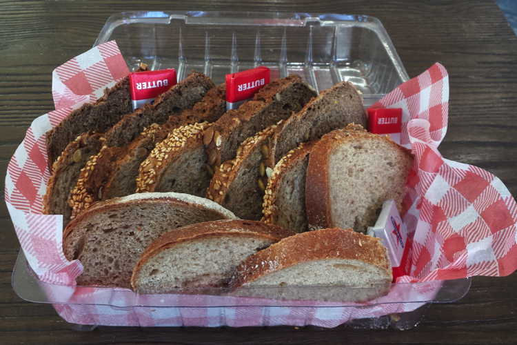
[[[79,172],[86,161],[99,152],[104,138],[99,134],[83,133],[71,141],[52,166],[47,191],[43,197],[43,213],[63,215],[63,226],[70,220],[72,208],[68,196],[77,183]]]

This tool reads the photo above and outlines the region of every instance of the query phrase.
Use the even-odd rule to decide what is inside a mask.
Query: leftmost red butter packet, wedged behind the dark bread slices
[[[130,94],[133,110],[151,103],[158,95],[176,85],[176,70],[151,70],[130,74]]]

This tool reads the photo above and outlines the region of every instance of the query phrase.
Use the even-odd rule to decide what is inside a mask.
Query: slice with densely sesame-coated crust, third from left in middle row
[[[136,193],[176,192],[204,197],[212,175],[207,170],[203,130],[208,122],[181,126],[156,144],[139,168]]]

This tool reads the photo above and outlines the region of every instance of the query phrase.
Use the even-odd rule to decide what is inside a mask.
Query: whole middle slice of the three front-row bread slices
[[[261,221],[183,226],[145,249],[133,270],[131,286],[138,293],[201,293],[202,288],[224,287],[244,259],[291,235],[290,230]]]

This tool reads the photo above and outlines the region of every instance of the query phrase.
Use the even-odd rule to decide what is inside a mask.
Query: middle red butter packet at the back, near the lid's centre
[[[270,69],[263,66],[226,75],[226,108],[238,108],[252,98],[255,92],[270,82],[270,75]]]

